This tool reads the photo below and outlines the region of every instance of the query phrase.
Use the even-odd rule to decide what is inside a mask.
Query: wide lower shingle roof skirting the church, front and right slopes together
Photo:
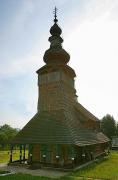
[[[13,139],[12,144],[75,144],[85,146],[107,142],[102,133],[83,130],[74,114],[38,112]]]

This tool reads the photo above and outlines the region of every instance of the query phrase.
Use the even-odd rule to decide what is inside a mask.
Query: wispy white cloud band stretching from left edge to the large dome
[[[38,43],[32,50],[22,58],[12,59],[11,61],[4,61],[0,66],[0,76],[14,77],[19,74],[25,74],[30,71],[36,71],[37,68],[44,65],[43,62],[43,43],[42,48],[38,48]],[[40,52],[40,53],[39,53]]]

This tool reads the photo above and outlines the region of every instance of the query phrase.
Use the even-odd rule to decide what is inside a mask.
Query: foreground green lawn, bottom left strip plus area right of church
[[[118,152],[112,152],[109,157],[94,162],[88,167],[69,173],[68,176],[60,178],[60,180],[85,180],[86,178],[105,179],[105,180],[118,180]],[[50,180],[52,178],[37,177],[26,174],[14,174],[9,176],[0,177],[0,180]],[[55,179],[57,180],[57,179]],[[59,180],[59,179],[58,179]]]

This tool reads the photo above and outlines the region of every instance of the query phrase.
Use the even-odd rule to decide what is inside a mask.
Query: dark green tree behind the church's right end
[[[110,114],[107,114],[102,118],[101,131],[110,139],[112,136],[116,136],[116,122]]]

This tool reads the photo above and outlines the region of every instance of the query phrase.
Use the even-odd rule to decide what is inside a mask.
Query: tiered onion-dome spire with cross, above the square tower
[[[70,55],[62,48],[63,39],[60,36],[62,33],[61,28],[57,22],[57,9],[55,8],[54,25],[50,28],[49,42],[50,48],[44,54],[44,62],[46,64],[67,64],[70,59]]]

